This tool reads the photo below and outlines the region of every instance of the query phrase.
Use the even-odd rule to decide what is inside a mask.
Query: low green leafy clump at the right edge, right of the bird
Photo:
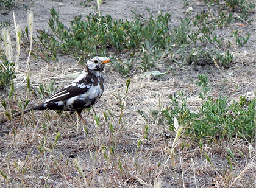
[[[170,122],[169,130],[174,130],[174,118],[179,119],[185,134],[198,140],[221,142],[224,139],[240,138],[255,141],[255,98],[247,100],[241,96],[239,101],[229,100],[227,96],[212,96],[207,75],[199,75],[197,87],[201,88],[202,99],[198,113],[191,112],[183,92],[169,96],[171,107],[162,111]]]

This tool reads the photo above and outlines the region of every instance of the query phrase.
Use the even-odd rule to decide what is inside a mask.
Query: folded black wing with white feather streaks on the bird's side
[[[50,99],[46,100],[44,103],[48,103],[48,102],[56,102],[56,101],[63,101],[63,100],[67,100],[70,99],[71,97],[75,97],[75,96],[79,96],[80,94],[84,94],[85,92],[88,91],[88,89],[90,89],[92,86],[92,84],[77,84],[75,83],[71,83],[68,86],[65,86],[64,88],[60,89],[59,91],[57,91],[54,96],[52,96]]]

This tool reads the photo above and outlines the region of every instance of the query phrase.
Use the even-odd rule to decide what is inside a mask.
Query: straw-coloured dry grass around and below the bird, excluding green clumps
[[[10,111],[18,110],[18,99],[28,96],[29,105],[41,102],[26,87],[26,53],[21,49]],[[255,97],[255,52],[234,56],[236,63],[227,71],[173,64],[163,78],[135,75],[127,94],[126,79],[107,67],[104,95],[94,111],[84,111],[87,126],[78,118],[73,122],[68,113],[54,111],[35,111],[4,122],[0,187],[256,187],[255,143],[233,138],[200,148],[182,130],[178,132],[179,127],[177,133],[169,131],[160,111],[169,105],[169,94],[177,91],[184,91],[191,110],[197,111],[201,105],[194,83],[197,74],[209,75],[216,96]],[[59,63],[31,60],[30,66],[32,92],[41,84],[49,85],[52,77],[54,88],[62,88],[73,80],[63,75],[83,69],[66,57]],[[0,111],[3,118],[4,109]],[[234,154],[232,166],[227,148]]]

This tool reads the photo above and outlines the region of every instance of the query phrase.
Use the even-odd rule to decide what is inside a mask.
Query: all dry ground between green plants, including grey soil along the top
[[[20,1],[14,10],[16,22],[23,29],[27,26],[27,12],[22,4],[29,2]],[[51,18],[49,9],[52,7],[59,11],[60,21],[66,26],[69,26],[74,16],[82,15],[85,18],[88,13],[95,13],[96,1],[91,1],[87,7],[79,5],[80,2],[82,1],[35,1],[30,7],[34,13],[35,34],[37,29],[48,28],[48,20]],[[138,13],[146,14],[146,7],[149,7],[155,15],[160,11],[171,13],[170,27],[177,27],[187,9],[183,3],[182,0],[106,0],[101,5],[101,14],[110,14],[113,19],[131,19],[133,13],[130,10],[136,9]],[[193,7],[193,13],[206,8],[202,1],[191,1],[190,6]],[[1,13],[0,20],[13,20],[12,12],[1,10]],[[252,17],[255,18],[255,14]],[[100,117],[100,127],[96,125],[92,111],[84,112],[88,120],[89,136],[82,123],[76,125],[68,114],[59,115],[52,111],[34,112],[26,115],[26,119],[21,117],[16,122],[1,125],[0,170],[8,179],[0,176],[0,187],[46,187],[45,184],[48,187],[157,187],[157,183],[161,183],[162,187],[256,187],[255,144],[252,144],[252,151],[249,152],[246,142],[234,138],[224,143],[204,144],[201,151],[197,142],[181,138],[179,142],[185,142],[190,147],[185,147],[183,151],[177,147],[176,155],[171,157],[169,148],[175,134],[169,132],[167,122],[161,122],[161,119],[152,116],[153,111],[165,108],[169,103],[169,94],[177,91],[185,92],[188,104],[196,111],[201,102],[194,83],[198,74],[209,75],[215,97],[221,94],[234,100],[238,100],[241,95],[249,100],[255,97],[255,20],[245,27],[233,27],[252,35],[244,47],[232,52],[234,61],[229,68],[224,69],[215,64],[179,66],[170,63],[166,69],[159,60],[160,66],[155,69],[160,72],[168,71],[168,74],[162,78],[141,78],[141,74],[134,74],[125,95],[126,78],[107,66],[106,89],[94,108],[94,113]],[[228,30],[219,30],[218,34],[229,37]],[[27,51],[23,50],[20,74],[15,80],[16,97],[21,100],[27,97],[26,82],[22,74],[26,58]],[[126,61],[125,54],[118,58]],[[52,82],[52,77],[59,77],[55,80],[55,87],[62,88],[73,78],[63,78],[61,75],[83,69],[83,65],[77,64],[73,57],[59,57],[57,63],[33,59],[31,62],[32,89],[38,88],[40,84],[48,85]],[[7,99],[6,92],[2,92],[2,99]],[[124,99],[124,109],[121,110],[119,103]],[[30,100],[29,106],[41,102],[36,96],[30,96]],[[18,108],[17,103],[12,104],[15,105]],[[103,112],[107,113],[109,110],[115,119],[112,121],[115,133],[110,131],[109,122],[104,120]],[[145,116],[141,116],[138,110],[143,111]],[[123,127],[118,123],[120,116]],[[2,108],[1,117],[4,117]],[[5,132],[8,127],[20,124],[23,126],[18,127],[16,133]],[[137,144],[143,138],[146,124],[149,126],[148,139],[138,149]],[[53,153],[38,149],[44,145],[51,150],[59,132],[61,136]],[[111,153],[113,145],[117,148],[115,154]],[[246,154],[235,153],[233,172],[228,168],[226,147]],[[104,152],[108,159],[104,158]],[[205,159],[205,152],[215,168]],[[79,160],[84,179],[76,169],[74,159]],[[26,170],[23,173],[24,167]],[[235,179],[240,175],[241,178]]]

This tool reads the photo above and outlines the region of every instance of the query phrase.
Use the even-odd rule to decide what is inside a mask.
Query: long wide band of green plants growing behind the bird
[[[52,19],[48,23],[51,30],[38,30],[37,37],[43,44],[44,55],[53,60],[57,60],[59,53],[71,54],[80,58],[80,62],[88,56],[108,52],[115,55],[126,52],[132,58],[141,57],[141,63],[128,66],[128,70],[127,66],[123,70],[122,66],[114,64],[114,68],[125,75],[133,68],[147,71],[165,55],[184,64],[215,62],[227,66],[233,60],[231,46],[227,47],[231,42],[216,35],[215,31],[232,23],[234,15],[224,12],[215,15],[210,9],[212,3],[207,5],[208,10],[196,16],[188,13],[180,21],[180,26],[173,29],[169,27],[171,15],[159,13],[154,18],[149,9],[149,18],[133,12],[132,21],[113,20],[110,15],[92,13],[87,15],[86,21],[76,16],[69,27],[60,21],[59,12],[51,9]],[[239,46],[243,46],[249,40],[250,33],[240,36],[235,31],[233,37]]]

